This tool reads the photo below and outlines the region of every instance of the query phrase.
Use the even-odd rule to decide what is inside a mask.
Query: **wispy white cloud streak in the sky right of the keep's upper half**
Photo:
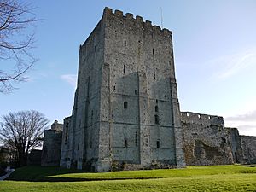
[[[214,67],[218,67],[218,72],[214,74],[216,79],[228,79],[248,67],[256,64],[256,49],[247,49],[233,55],[225,55],[209,61]]]

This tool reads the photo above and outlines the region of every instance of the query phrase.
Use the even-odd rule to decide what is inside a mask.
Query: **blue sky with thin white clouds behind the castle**
[[[38,63],[18,90],[0,95],[0,115],[34,109],[53,122],[72,113],[79,44],[104,7],[143,16],[172,31],[182,111],[224,116],[225,125],[256,136],[256,1],[32,1]],[[2,61],[0,61],[2,62]],[[3,65],[1,65],[3,66]]]

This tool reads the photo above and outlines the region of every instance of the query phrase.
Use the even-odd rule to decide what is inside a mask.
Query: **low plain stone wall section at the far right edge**
[[[256,137],[240,136],[244,163],[256,164]]]

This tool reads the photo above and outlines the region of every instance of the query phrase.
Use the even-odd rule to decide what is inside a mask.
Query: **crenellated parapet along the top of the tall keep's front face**
[[[134,15],[131,13],[126,13],[124,15],[123,11],[120,11],[118,9],[114,10],[110,9],[108,7],[106,7],[103,11],[103,17],[106,16],[108,17],[116,17],[116,18],[120,18],[120,19],[124,19],[124,20],[134,20],[137,23],[143,24],[143,26],[145,26],[145,28],[151,28],[154,32],[163,32],[166,35],[170,35],[172,34],[172,32],[166,28],[161,29],[160,26],[153,26],[152,22],[150,20],[143,20],[142,16],[136,15],[134,18]]]

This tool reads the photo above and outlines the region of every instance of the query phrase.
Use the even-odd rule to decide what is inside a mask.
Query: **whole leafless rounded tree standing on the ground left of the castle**
[[[42,144],[49,120],[37,111],[20,111],[3,116],[0,140],[15,154],[19,166],[25,166],[28,153]]]

